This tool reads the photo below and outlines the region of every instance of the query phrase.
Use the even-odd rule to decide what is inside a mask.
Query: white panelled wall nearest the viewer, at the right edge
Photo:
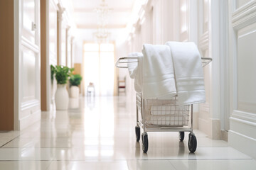
[[[231,147],[256,159],[256,1],[230,1]]]

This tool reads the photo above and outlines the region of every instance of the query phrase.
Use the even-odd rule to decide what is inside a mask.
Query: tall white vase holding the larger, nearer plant
[[[56,110],[68,110],[68,91],[65,84],[58,84],[55,93]]]

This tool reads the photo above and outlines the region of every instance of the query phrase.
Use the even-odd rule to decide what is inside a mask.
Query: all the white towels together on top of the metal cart
[[[128,64],[137,92],[145,99],[171,99],[178,95],[180,106],[206,101],[200,53],[194,42],[144,44],[139,62]]]

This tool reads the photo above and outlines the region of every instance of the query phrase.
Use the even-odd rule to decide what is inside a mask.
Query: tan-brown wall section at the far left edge
[[[14,130],[14,1],[0,1],[0,130]]]

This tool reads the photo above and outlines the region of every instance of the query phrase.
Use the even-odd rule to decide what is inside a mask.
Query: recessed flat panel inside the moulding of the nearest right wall
[[[256,23],[238,30],[238,111],[256,114]]]

